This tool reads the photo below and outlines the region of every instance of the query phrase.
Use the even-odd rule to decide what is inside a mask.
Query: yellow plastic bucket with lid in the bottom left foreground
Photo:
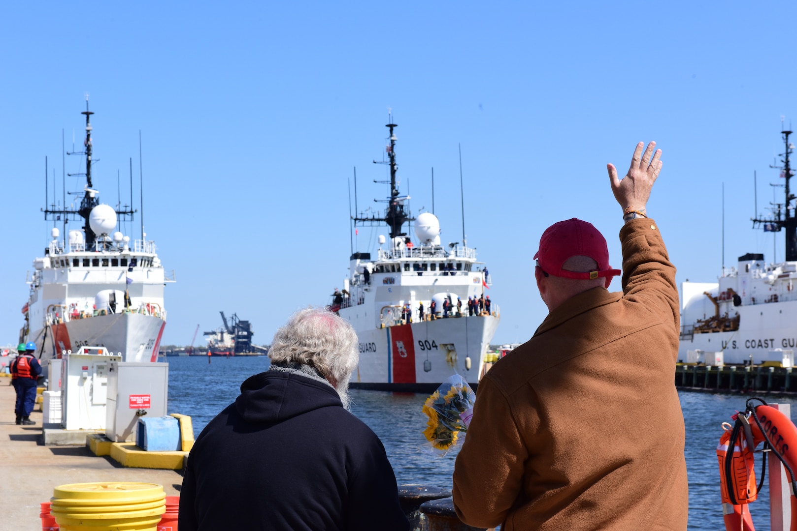
[[[50,514],[63,531],[156,531],[166,493],[155,483],[71,483],[53,489]]]

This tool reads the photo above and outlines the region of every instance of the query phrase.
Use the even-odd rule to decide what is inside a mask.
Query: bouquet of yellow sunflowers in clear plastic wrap
[[[427,442],[421,450],[437,455],[453,450],[460,435],[468,431],[475,401],[476,393],[460,375],[455,374],[443,382],[423,404],[428,420],[423,431]]]

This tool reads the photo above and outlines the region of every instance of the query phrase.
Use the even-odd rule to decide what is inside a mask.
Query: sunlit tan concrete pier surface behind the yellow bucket
[[[81,482],[150,482],[167,495],[180,494],[183,476],[174,470],[124,468],[109,456],[97,457],[85,445],[43,446],[41,412],[35,426],[14,424],[14,388],[0,377],[0,503],[2,529],[41,529],[39,504],[53,487]]]

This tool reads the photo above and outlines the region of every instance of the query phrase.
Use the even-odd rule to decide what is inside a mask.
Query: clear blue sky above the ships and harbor
[[[794,2],[6,3],[0,8],[0,343],[16,342],[32,260],[49,240],[45,156],[61,197],[61,130],[82,142],[90,95],[94,181],[139,204],[178,283],[164,343],[187,344],[219,310],[253,322],[258,343],[297,308],[324,304],[347,273],[347,179],[358,202],[384,197],[387,108],[402,191],[465,232],[493,275],[496,342],[529,338],[547,310],[532,256],[544,228],[579,217],[621,262],[621,212],[606,163],[624,172],[655,139],[662,174],[648,205],[677,279],[711,281],[745,252],[779,182],[780,116],[795,119]],[[66,171],[77,171],[67,158]],[[128,190],[125,191],[127,184]],[[797,182],[795,182],[797,185]],[[51,183],[52,186],[52,183]],[[80,189],[75,178],[68,190]],[[779,200],[782,194],[779,196]],[[132,237],[140,237],[138,219]],[[128,231],[126,231],[128,232]],[[379,233],[361,229],[357,249]],[[783,233],[775,236],[783,260]],[[618,283],[614,283],[615,289]]]

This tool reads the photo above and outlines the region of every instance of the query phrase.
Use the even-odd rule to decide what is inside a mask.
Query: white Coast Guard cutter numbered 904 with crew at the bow
[[[391,120],[392,121],[392,120]],[[485,295],[489,275],[479,267],[475,249],[440,243],[440,225],[432,213],[417,219],[405,211],[410,197],[396,184],[394,128],[387,146],[391,197],[383,217],[354,217],[355,226],[390,227],[390,238],[379,236],[375,260],[366,252],[351,255],[344,290],[332,308],[354,326],[359,339],[359,365],[351,387],[392,390],[436,388],[454,373],[476,384],[485,353],[495,334],[500,312],[496,305],[469,317],[468,298]],[[414,221],[415,243],[402,225]],[[386,248],[383,248],[386,247]],[[432,301],[437,318],[431,318]],[[461,315],[457,312],[461,301]],[[423,305],[423,318],[420,305]],[[450,310],[444,305],[450,304]],[[443,317],[444,314],[449,317]]]

